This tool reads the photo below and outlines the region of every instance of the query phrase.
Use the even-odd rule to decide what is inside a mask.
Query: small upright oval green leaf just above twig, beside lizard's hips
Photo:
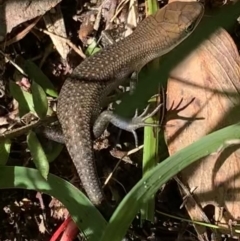
[[[43,88],[38,85],[35,81],[32,81],[31,85],[34,109],[40,119],[43,119],[47,115],[48,101],[47,95]]]

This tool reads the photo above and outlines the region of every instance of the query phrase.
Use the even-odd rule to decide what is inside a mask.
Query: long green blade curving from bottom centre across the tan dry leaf
[[[113,213],[101,241],[120,241],[141,205],[154,195],[170,178],[202,157],[226,148],[240,140],[240,123],[209,134],[176,152],[149,171],[125,196]],[[131,207],[131,208],[129,208]]]

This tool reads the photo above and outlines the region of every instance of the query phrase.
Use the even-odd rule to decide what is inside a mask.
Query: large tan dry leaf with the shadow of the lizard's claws
[[[232,38],[221,29],[175,68],[167,91],[170,154],[214,130],[239,122],[239,63]],[[189,190],[196,188],[194,197],[201,207],[215,211],[209,219],[224,222],[225,227],[240,217],[238,147],[212,154],[180,173]],[[186,207],[193,220],[204,220],[192,199],[187,200]],[[218,212],[221,207],[225,209],[223,217]],[[197,231],[204,234],[206,230],[198,226]]]

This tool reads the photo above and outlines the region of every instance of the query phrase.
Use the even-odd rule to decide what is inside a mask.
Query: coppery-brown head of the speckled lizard
[[[148,36],[162,55],[189,36],[203,14],[204,6],[200,2],[171,2],[146,18]]]

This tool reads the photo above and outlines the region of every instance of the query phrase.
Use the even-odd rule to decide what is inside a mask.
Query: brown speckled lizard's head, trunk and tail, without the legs
[[[104,201],[94,160],[92,125],[106,88],[166,54],[195,29],[202,18],[198,2],[172,2],[142,21],[123,41],[85,59],[65,81],[57,115],[83,187],[94,205]]]

